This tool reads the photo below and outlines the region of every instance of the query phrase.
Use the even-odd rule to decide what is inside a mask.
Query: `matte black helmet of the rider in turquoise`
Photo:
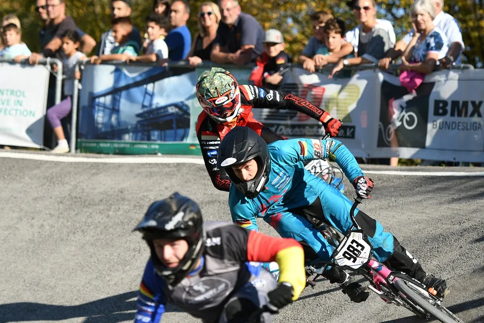
[[[250,181],[241,181],[235,176],[232,166],[240,166],[254,159],[257,174]],[[254,198],[269,181],[271,157],[267,143],[249,127],[235,127],[220,142],[217,168],[225,169],[233,185],[248,198]]]

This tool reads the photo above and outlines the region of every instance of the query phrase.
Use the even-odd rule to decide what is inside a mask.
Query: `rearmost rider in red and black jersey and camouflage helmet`
[[[210,179],[216,189],[228,192],[230,178],[223,169],[217,169],[217,150],[220,140],[235,126],[255,130],[267,143],[286,139],[254,119],[252,108],[289,109],[304,113],[324,126],[331,137],[338,134],[341,122],[310,102],[292,94],[253,85],[238,85],[232,74],[221,68],[212,68],[200,75],[197,98],[202,113],[197,120],[197,138]]]

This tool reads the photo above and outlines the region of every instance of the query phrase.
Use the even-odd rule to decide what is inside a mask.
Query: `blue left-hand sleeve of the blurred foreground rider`
[[[135,323],[158,323],[165,312],[165,301],[161,290],[161,278],[157,279],[151,258],[146,263],[143,279],[136,300]]]

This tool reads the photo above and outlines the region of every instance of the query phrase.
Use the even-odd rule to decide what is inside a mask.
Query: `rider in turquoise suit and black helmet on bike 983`
[[[335,187],[304,168],[305,161],[321,158],[336,161],[358,197],[370,197],[372,180],[365,177],[356,159],[338,140],[300,138],[268,145],[248,127],[230,130],[220,143],[217,168],[225,169],[232,181],[229,191],[232,221],[257,230],[256,217],[263,218],[282,237],[304,241],[319,259],[327,261],[332,249],[305,216],[319,217],[346,233],[352,226],[349,216],[352,203]],[[378,221],[358,209],[355,219],[368,235],[377,261],[410,275],[445,297],[449,292],[445,280],[423,271],[420,263]],[[345,292],[351,298],[352,290]]]

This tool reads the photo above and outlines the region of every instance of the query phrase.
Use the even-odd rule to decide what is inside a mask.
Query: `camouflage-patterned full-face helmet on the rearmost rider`
[[[213,67],[200,75],[197,98],[203,110],[219,123],[231,123],[240,114],[240,90],[232,74]]]

